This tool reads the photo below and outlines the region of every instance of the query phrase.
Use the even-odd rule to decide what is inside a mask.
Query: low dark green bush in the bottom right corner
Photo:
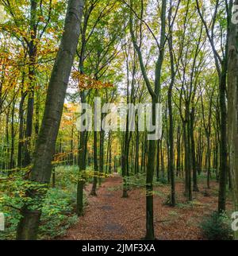
[[[230,219],[223,213],[214,211],[200,223],[202,234],[208,240],[231,240],[232,229]]]

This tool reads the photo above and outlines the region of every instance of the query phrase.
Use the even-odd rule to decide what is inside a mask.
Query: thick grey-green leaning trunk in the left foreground
[[[79,41],[80,24],[83,15],[83,1],[69,0],[64,25],[63,37],[59,45],[51,80],[48,85],[44,117],[40,134],[36,143],[33,169],[30,180],[48,185],[52,173],[52,157],[55,152],[56,138],[63,112],[63,102],[66,95],[67,83],[71,74],[76,48]],[[31,190],[27,195],[43,203],[43,192]],[[21,219],[17,226],[17,239],[36,239],[40,223],[40,208],[31,208],[25,204],[21,208]]]

